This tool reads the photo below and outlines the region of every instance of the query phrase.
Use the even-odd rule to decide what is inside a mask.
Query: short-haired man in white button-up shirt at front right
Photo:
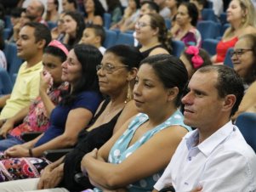
[[[241,78],[225,65],[209,65],[196,71],[188,88],[184,122],[196,130],[185,135],[154,188],[255,191],[256,155],[230,121],[242,100]]]

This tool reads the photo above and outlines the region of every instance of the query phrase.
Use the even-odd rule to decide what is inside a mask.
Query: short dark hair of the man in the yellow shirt
[[[37,22],[28,22],[24,26],[30,26],[32,28],[35,28],[34,36],[35,36],[36,42],[45,40],[44,48],[48,46],[49,42],[51,42],[52,40],[51,31],[48,29],[46,25],[43,25]]]

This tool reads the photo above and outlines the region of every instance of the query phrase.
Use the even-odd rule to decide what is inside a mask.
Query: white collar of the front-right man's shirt
[[[191,150],[191,148],[196,146],[198,150],[201,150],[204,155],[208,156],[221,142],[230,136],[230,133],[234,132],[235,130],[235,126],[233,126],[232,122],[229,121],[223,127],[219,128],[218,131],[205,139],[201,144],[196,146],[199,139],[199,133],[196,129],[185,136],[187,148],[188,150]]]

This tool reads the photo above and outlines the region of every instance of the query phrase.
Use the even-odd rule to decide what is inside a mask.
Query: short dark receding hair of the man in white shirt
[[[236,103],[232,107],[230,113],[230,116],[233,116],[236,113],[236,110],[238,110],[244,94],[242,78],[234,69],[225,65],[208,65],[198,69],[197,71],[201,73],[216,71],[218,73],[216,88],[218,90],[219,97],[225,98],[228,94],[234,94],[236,96]]]

